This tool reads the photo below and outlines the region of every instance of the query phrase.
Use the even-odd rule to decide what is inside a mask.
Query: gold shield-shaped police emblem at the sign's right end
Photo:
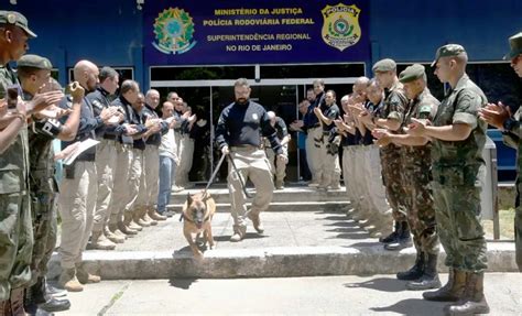
[[[320,12],[324,19],[322,36],[326,44],[342,52],[359,42],[361,10],[356,4],[326,6]]]

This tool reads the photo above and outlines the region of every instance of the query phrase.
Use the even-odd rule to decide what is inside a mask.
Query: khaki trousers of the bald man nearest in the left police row
[[[89,241],[93,229],[98,190],[95,162],[76,162],[74,178],[64,177],[59,190],[61,263],[63,269],[72,269],[75,264],[81,263],[81,252]]]

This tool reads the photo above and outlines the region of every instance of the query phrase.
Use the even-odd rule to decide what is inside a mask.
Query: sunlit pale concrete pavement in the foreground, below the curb
[[[445,282],[447,274],[441,275]],[[521,315],[522,273],[488,273],[490,315]],[[443,315],[394,275],[104,281],[57,315]]]

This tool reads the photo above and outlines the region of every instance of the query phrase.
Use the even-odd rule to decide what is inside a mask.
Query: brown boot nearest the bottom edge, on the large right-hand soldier
[[[466,288],[463,297],[452,305],[444,307],[446,315],[489,314],[489,305],[483,295],[483,272],[466,273]]]

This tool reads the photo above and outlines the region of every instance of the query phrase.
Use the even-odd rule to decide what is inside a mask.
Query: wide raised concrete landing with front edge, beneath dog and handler
[[[345,274],[390,274],[409,269],[413,248],[385,251],[359,225],[338,210],[267,211],[261,214],[264,235],[249,227],[241,242],[229,242],[232,219],[216,214],[213,232],[216,249],[194,260],[183,237],[180,217],[145,228],[113,251],[84,253],[86,269],[102,279],[269,277]],[[249,222],[250,225],[250,222]],[[439,271],[444,266],[441,253]],[[516,272],[514,243],[488,242],[489,272]],[[59,274],[57,255],[50,277]]]

